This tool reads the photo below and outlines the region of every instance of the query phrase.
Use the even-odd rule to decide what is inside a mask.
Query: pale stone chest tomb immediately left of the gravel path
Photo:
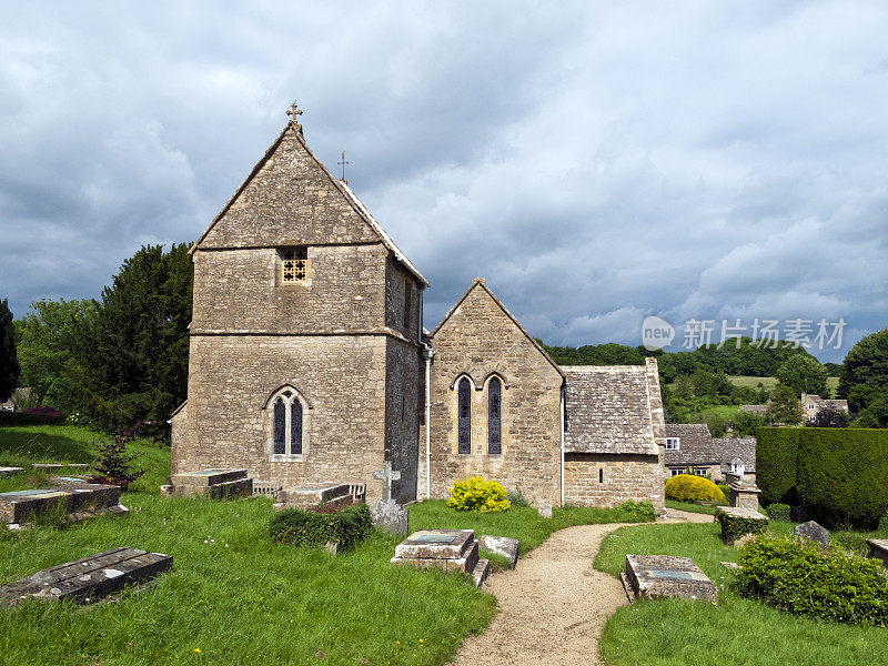
[[[478,558],[474,529],[421,529],[395,546],[392,564],[410,564],[420,568],[438,567],[446,572],[465,572],[475,585],[487,578],[490,562]]]

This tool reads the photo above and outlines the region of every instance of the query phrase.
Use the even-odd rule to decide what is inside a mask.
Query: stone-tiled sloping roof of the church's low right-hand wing
[[[567,365],[564,450],[657,455],[644,365]]]

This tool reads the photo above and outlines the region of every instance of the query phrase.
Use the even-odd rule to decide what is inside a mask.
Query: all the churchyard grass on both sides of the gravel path
[[[0,428],[0,465],[89,463],[95,436],[65,426]],[[336,556],[276,544],[269,538],[270,498],[161,496],[169,450],[144,442],[130,448],[148,473],[123,493],[129,514],[0,532],[0,582],[124,546],[170,554],[173,569],[111,603],[24,602],[3,609],[0,654],[10,663],[444,664],[496,613],[493,596],[465,574],[392,565],[403,536],[374,529]],[[47,480],[46,471],[26,471],[0,478],[0,492]],[[555,509],[552,518],[522,506],[466,513],[432,501],[411,506],[410,528],[509,536],[524,555],[556,529],[640,519],[596,508]],[[770,524],[777,534],[791,529]],[[847,542],[865,547],[866,536]],[[616,576],[627,555],[690,557],[716,584],[718,604],[640,599],[618,609],[602,640],[607,664],[878,664],[888,654],[885,629],[795,617],[740,597],[722,564],[736,562],[738,549],[723,544],[715,523],[619,528],[605,538],[594,566]],[[484,557],[493,576],[508,567],[503,556]]]

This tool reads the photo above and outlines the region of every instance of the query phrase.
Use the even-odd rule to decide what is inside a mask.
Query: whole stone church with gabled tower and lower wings
[[[483,280],[430,333],[428,282],[305,143],[299,111],[194,243],[173,474],[366,484],[481,474],[537,505],[663,506],[656,360],[559,367]]]

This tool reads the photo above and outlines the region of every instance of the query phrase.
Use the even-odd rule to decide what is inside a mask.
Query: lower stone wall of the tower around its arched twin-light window
[[[384,335],[192,335],[184,446],[173,443],[172,472],[244,467],[284,485],[366,483],[385,450]],[[271,462],[265,402],[293,386],[304,408],[303,454]]]

